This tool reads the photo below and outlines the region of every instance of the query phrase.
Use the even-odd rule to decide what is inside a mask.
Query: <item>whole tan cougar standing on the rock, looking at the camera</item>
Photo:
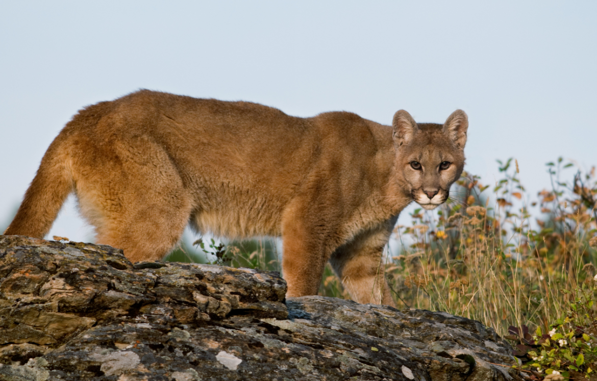
[[[296,118],[141,90],[73,117],[5,234],[43,238],[75,192],[97,242],[132,261],[161,259],[188,223],[230,238],[282,236],[288,296],[316,294],[330,260],[353,299],[393,305],[383,247],[413,199],[447,199],[466,130],[461,110],[443,126],[400,110],[389,127],[350,112]]]

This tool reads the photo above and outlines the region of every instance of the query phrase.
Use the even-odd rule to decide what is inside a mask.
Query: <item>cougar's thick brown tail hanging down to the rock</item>
[[[65,157],[66,152],[59,149],[60,138],[60,135],[56,137],[45,153],[19,211],[4,235],[44,238],[64,200],[74,191],[75,182],[67,165],[70,160]]]

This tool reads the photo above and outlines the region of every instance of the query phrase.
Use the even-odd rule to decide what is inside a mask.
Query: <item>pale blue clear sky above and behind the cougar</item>
[[[139,88],[390,124],[469,115],[467,170],[597,164],[597,2],[0,3],[0,225],[81,107]],[[233,144],[233,142],[231,142]],[[72,202],[50,235],[87,240]]]

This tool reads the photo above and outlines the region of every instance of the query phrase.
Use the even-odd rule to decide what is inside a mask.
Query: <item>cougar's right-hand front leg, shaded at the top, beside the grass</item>
[[[373,231],[365,231],[339,247],[330,263],[344,288],[358,303],[395,307],[384,275],[383,248],[392,232],[392,221]]]

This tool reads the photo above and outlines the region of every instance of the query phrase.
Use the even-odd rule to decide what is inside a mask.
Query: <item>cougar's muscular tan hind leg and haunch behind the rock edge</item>
[[[76,182],[81,214],[96,228],[97,243],[121,248],[131,262],[168,254],[193,208],[176,168],[161,156],[156,149],[143,162],[106,162]]]

